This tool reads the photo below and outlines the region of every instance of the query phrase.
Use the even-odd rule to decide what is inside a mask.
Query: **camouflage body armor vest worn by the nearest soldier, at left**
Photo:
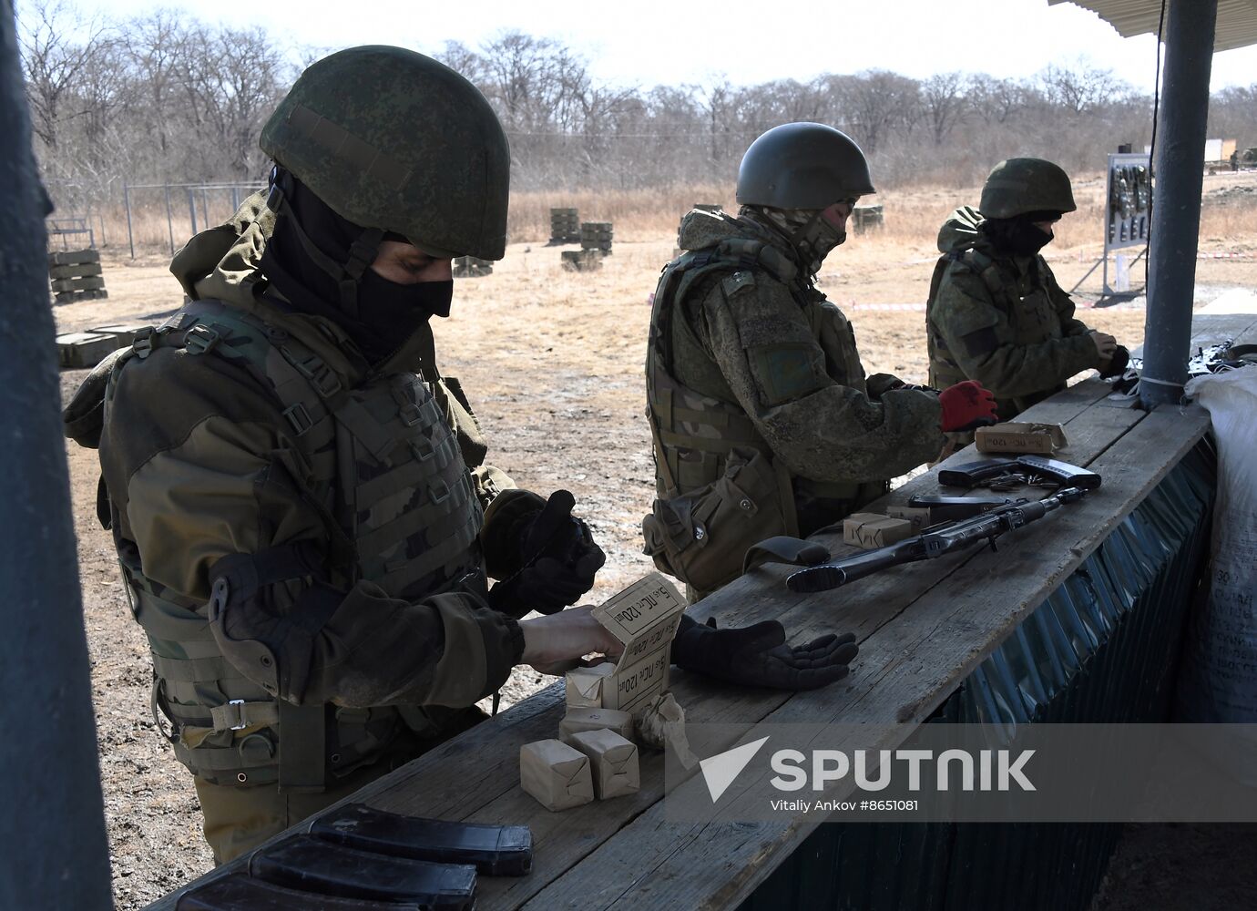
[[[446,390],[430,363],[427,382],[400,372],[344,388],[285,330],[199,300],[137,335],[114,369],[167,346],[222,357],[274,393],[295,442],[280,457],[324,519],[333,586],[366,579],[407,601],[454,588],[484,592],[480,504],[434,397]],[[373,761],[403,728],[435,733],[447,711],[275,700],[222,657],[206,604],[163,591],[145,577],[133,544],[116,540],[132,611],[152,651],[155,717],[170,721],[166,736],[195,775],[215,784],[278,780],[319,789],[326,773],[341,777]]]

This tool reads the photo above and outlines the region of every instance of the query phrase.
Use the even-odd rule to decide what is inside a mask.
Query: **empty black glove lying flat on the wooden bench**
[[[816,690],[847,676],[847,665],[859,651],[850,632],[788,646],[786,630],[776,619],[716,630],[714,617],[706,626],[681,617],[672,640],[672,663],[729,684]]]

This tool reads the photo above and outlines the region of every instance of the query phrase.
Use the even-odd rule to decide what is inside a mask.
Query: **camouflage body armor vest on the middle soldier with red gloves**
[[[750,544],[773,535],[799,534],[796,498],[823,500],[827,511],[843,515],[850,511],[848,504],[867,503],[885,489],[882,484],[793,477],[773,457],[719,367],[701,352],[684,319],[676,318],[688,295],[730,271],[727,283],[737,283],[743,273],[767,271],[789,288],[826,349],[831,372],[850,374],[845,382],[864,390],[862,369],[859,364],[852,369],[850,363],[833,363],[836,352],[825,344],[827,330],[817,322],[833,317],[845,325],[845,318],[836,309],[833,314],[821,313],[794,280],[793,264],[772,245],[732,237],[688,251],[666,266],[655,293],[646,358],[646,417],[654,440],[657,499],[644,523],[644,534],[646,553],[656,565],[690,584],[691,593],[699,596],[737,578]],[[691,349],[681,356],[698,364],[704,390],[676,378],[678,347]]]

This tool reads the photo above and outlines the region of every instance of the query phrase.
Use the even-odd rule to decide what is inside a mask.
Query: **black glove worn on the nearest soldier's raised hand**
[[[520,513],[485,540],[486,563],[505,574],[489,589],[494,609],[512,617],[556,613],[593,588],[593,576],[607,558],[590,526],[572,515],[574,503],[569,491],[556,490],[544,506]],[[508,554],[490,555],[503,549],[497,547],[503,540]]]

